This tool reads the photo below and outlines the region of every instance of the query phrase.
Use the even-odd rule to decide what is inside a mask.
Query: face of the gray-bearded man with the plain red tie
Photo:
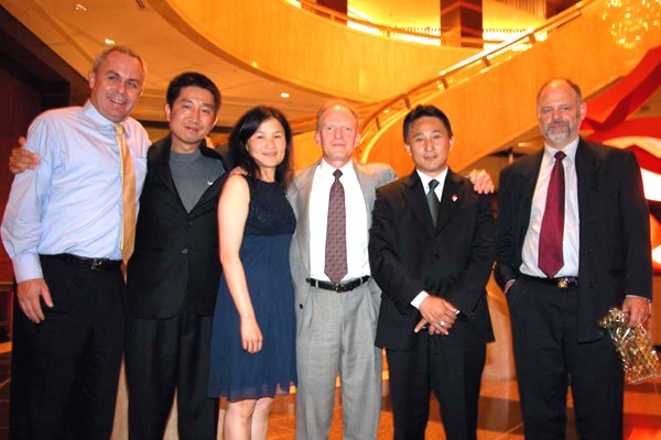
[[[566,81],[549,82],[538,99],[538,121],[549,146],[562,150],[578,138],[586,110],[585,102]]]

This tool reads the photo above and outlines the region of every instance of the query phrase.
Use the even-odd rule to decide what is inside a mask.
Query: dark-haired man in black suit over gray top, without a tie
[[[128,266],[129,436],[162,439],[176,389],[180,439],[210,440],[217,405],[206,387],[225,166],[205,138],[220,94],[207,77],[185,73],[170,82],[166,99],[171,133],[149,150]]]

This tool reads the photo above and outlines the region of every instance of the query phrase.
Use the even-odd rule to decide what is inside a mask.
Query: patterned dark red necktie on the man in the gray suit
[[[347,274],[347,217],[345,212],[344,186],[339,182],[342,172],[333,173],[335,182],[328,197],[328,223],[326,226],[326,262],[324,272],[335,284]]]

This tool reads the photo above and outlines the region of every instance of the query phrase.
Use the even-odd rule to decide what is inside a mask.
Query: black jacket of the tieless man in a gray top
[[[223,161],[201,143],[207,157]],[[129,261],[129,316],[164,319],[176,315],[186,295],[199,315],[213,315],[220,261],[217,200],[224,177],[216,179],[187,212],[170,172],[171,138],[152,145]]]

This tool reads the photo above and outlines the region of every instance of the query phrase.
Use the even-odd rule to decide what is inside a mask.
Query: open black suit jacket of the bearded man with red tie
[[[543,152],[500,173],[495,277],[501,287],[520,276],[532,196]],[[625,295],[651,298],[649,210],[633,153],[578,142],[578,341],[602,337],[597,321]]]

